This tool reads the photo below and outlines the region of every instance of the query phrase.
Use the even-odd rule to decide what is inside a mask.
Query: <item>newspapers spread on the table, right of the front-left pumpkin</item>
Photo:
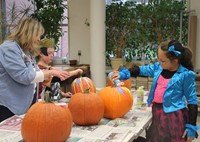
[[[137,138],[150,122],[151,108],[138,108],[122,118],[103,118],[98,125],[73,126],[67,142],[126,142]]]

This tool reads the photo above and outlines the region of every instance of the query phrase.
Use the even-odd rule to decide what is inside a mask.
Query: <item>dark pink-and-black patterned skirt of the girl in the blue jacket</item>
[[[165,113],[162,104],[154,103],[152,106],[152,124],[147,130],[148,142],[186,142],[182,138],[185,124],[188,122],[186,108]]]

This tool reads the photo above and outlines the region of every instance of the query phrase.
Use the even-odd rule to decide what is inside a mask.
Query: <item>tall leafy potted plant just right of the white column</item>
[[[134,6],[134,2],[116,2],[106,5],[106,54],[120,60],[117,66],[124,64],[124,51],[137,23],[131,8]],[[114,58],[111,62],[113,60]],[[112,67],[116,68],[115,65]]]

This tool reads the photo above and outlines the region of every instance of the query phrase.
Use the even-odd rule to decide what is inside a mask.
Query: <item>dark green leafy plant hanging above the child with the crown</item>
[[[67,18],[64,16],[64,10],[67,9],[67,4],[65,4],[64,1],[65,0],[31,0],[32,4],[36,6],[31,16],[38,19],[44,25],[45,33],[43,36],[45,38],[53,38],[56,45],[59,38],[63,35],[61,23]]]

